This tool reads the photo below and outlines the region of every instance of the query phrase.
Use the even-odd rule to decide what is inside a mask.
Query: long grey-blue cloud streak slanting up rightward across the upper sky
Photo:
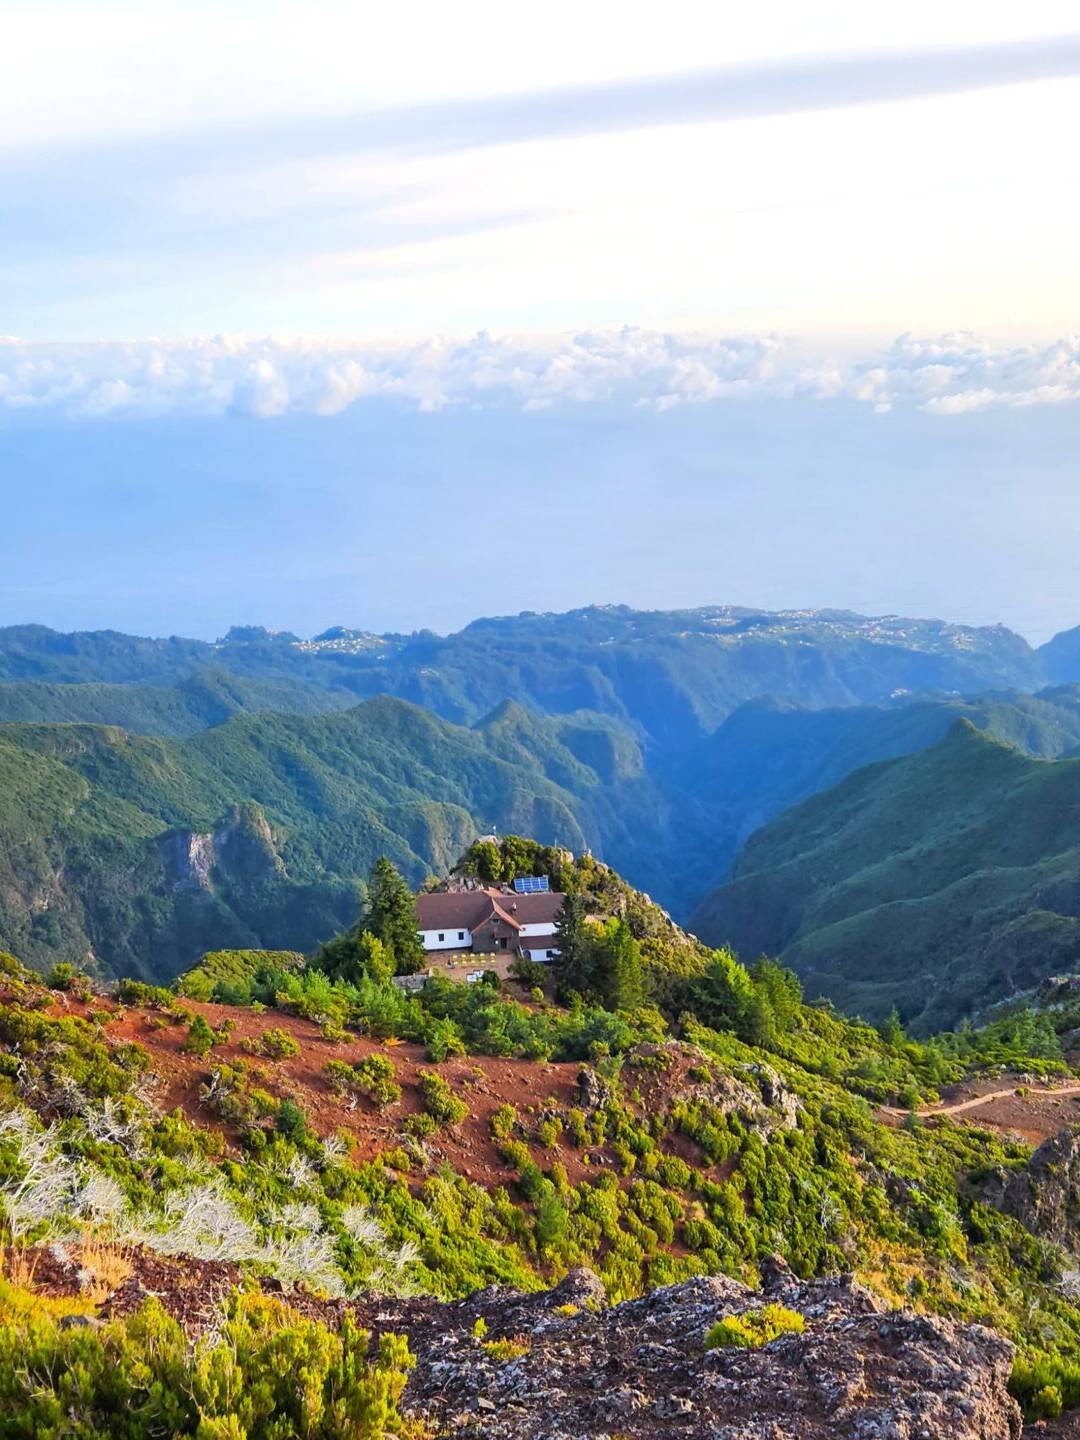
[[[344,238],[363,233],[366,243],[372,232],[389,242],[402,228],[397,183],[357,180],[354,193],[343,194],[320,187],[320,168],[402,167],[487,147],[799,115],[1077,75],[1080,35],[1064,35],[747,62],[130,141],[0,147],[0,253],[7,265],[71,255],[72,216],[84,258],[128,248],[145,258],[177,243],[184,252],[220,253],[253,240],[261,252],[300,252],[328,226]],[[288,226],[275,228],[284,215]],[[435,226],[433,233],[454,229]]]

